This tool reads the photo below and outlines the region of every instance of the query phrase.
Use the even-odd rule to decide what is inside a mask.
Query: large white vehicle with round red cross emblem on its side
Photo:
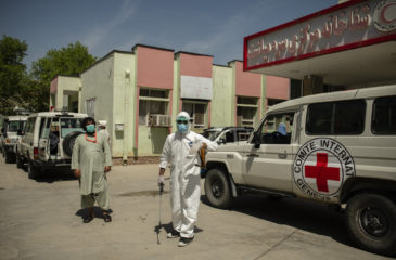
[[[247,142],[208,153],[206,167],[215,207],[250,191],[345,206],[357,245],[396,253],[396,84],[274,105]]]

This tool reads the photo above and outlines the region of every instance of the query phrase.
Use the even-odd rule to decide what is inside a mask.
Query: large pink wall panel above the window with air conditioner
[[[139,87],[173,89],[174,51],[137,47]]]

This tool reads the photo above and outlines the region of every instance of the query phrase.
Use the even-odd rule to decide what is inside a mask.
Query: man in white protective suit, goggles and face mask
[[[178,246],[189,245],[194,238],[201,197],[201,159],[199,150],[215,151],[217,143],[190,130],[190,115],[180,112],[177,131],[165,141],[159,162],[158,185],[164,185],[165,169],[170,165],[170,207],[174,230],[168,238],[179,238]]]

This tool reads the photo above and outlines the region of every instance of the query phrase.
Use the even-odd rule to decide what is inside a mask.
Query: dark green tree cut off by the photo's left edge
[[[22,80],[26,77],[27,43],[3,35],[0,40],[0,114],[12,114],[21,102]]]

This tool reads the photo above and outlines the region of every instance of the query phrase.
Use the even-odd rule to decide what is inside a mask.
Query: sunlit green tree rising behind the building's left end
[[[89,54],[88,48],[78,41],[60,50],[52,49],[44,57],[33,62],[30,81],[34,82],[28,88],[37,92],[37,95],[30,96],[35,110],[48,109],[51,80],[59,75],[79,76],[94,62],[95,57]]]

